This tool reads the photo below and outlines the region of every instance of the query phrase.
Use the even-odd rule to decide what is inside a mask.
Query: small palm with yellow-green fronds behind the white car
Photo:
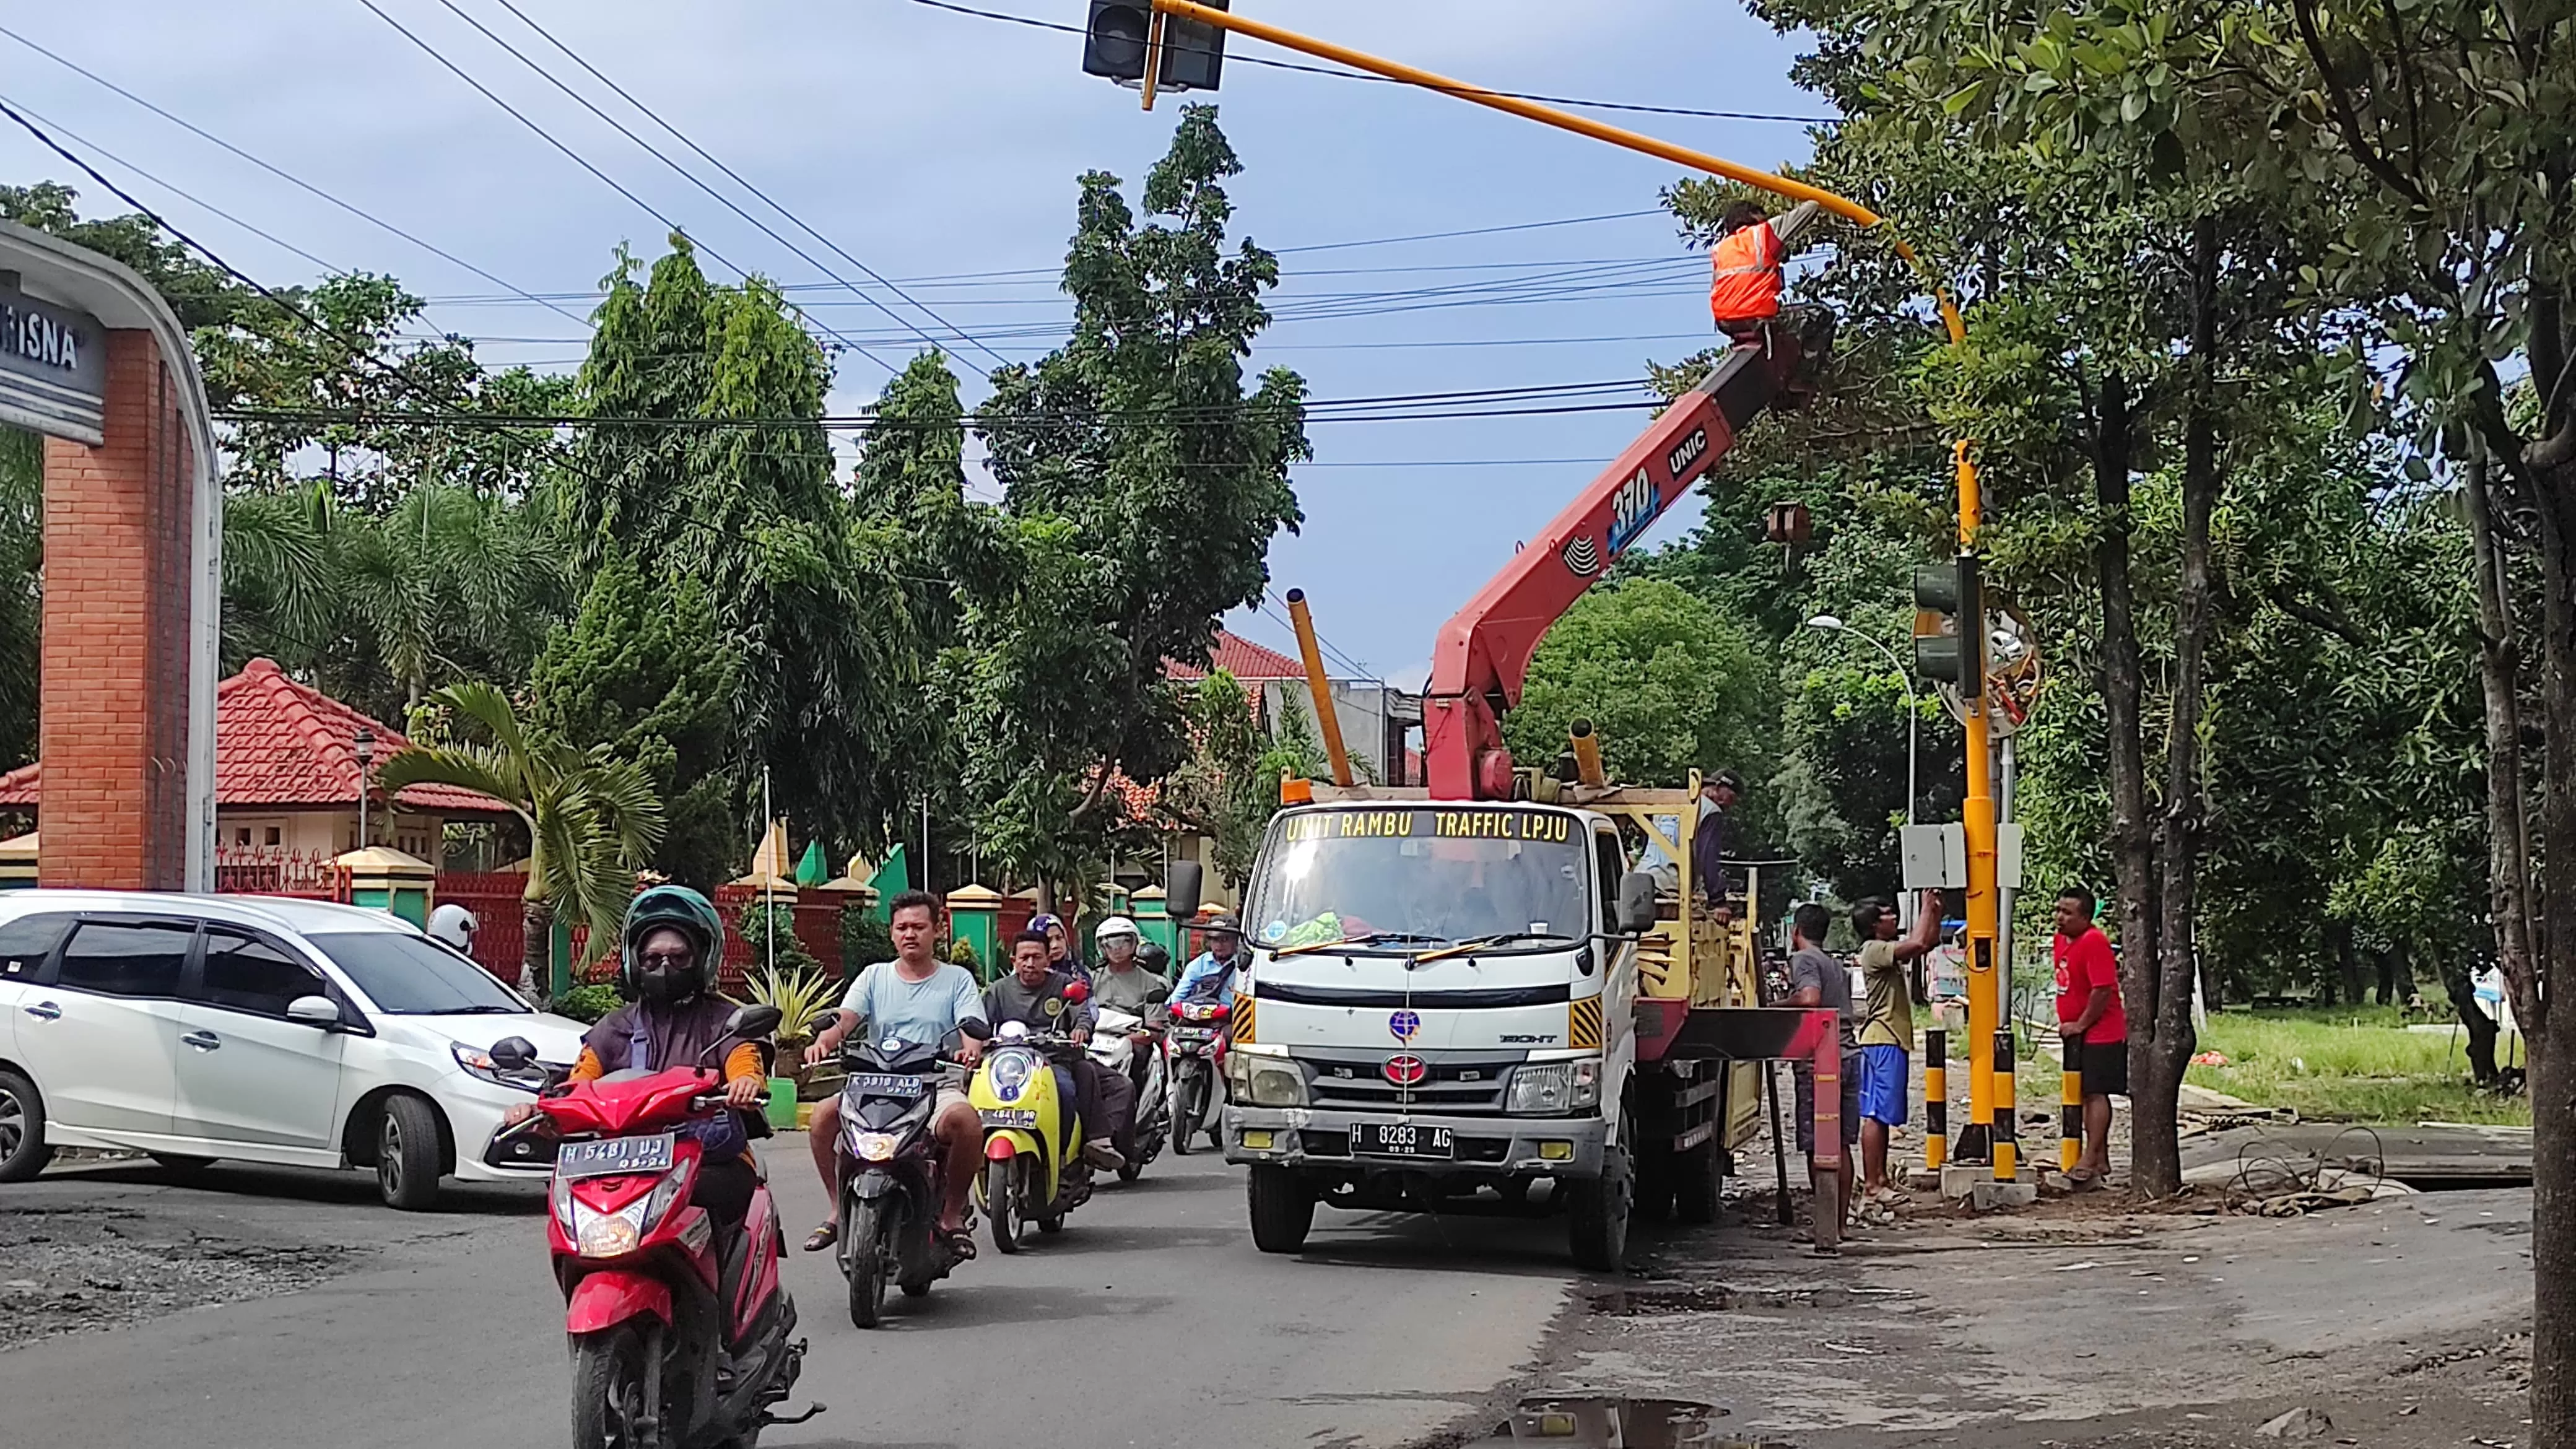
[[[536,993],[546,975],[554,918],[572,910],[590,923],[585,959],[616,944],[634,897],[634,874],[662,841],[662,799],[634,761],[613,761],[605,748],[582,753],[564,740],[518,722],[510,699],[489,683],[453,683],[430,704],[471,722],[482,743],[410,745],[384,761],[376,784],[402,792],[415,784],[451,784],[500,799],[528,828],[528,946],[520,990]]]

